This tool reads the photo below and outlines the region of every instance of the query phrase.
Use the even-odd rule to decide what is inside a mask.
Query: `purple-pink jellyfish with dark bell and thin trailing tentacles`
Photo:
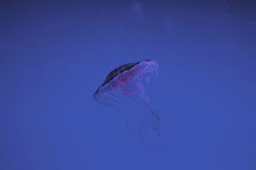
[[[159,114],[154,111],[146,92],[146,84],[153,74],[157,76],[158,67],[149,59],[116,67],[93,94],[97,103],[118,111],[129,134],[143,142],[149,140],[148,136],[160,136]]]

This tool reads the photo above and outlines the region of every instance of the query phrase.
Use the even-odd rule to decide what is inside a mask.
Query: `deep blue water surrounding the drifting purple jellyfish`
[[[1,1],[0,169],[256,169],[255,7]],[[168,150],[141,147],[92,99],[141,59],[159,64]]]

